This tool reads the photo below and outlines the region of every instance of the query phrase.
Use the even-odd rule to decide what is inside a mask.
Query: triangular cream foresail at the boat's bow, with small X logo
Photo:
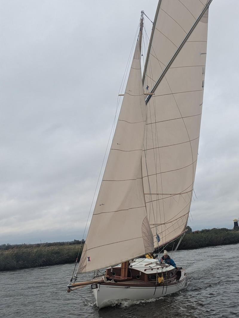
[[[141,172],[146,111],[139,42],[77,273],[154,250]]]

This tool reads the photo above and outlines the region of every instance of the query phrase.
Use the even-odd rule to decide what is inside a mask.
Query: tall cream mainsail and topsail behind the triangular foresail
[[[206,0],[159,1],[146,59],[144,92],[151,92],[162,74],[146,105],[142,153],[144,194],[155,247],[178,237],[189,215],[203,103],[206,5]]]

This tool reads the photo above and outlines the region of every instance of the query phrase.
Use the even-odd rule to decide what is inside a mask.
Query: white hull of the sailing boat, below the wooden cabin
[[[117,283],[100,283],[97,288],[92,289],[98,308],[112,306],[120,300],[144,300],[154,299],[165,295],[178,292],[186,284],[185,270],[182,270],[182,276],[179,281],[170,284],[154,286],[137,286]]]

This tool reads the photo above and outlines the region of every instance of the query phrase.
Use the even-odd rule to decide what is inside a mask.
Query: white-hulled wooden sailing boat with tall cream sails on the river
[[[141,11],[108,161],[77,273],[68,285],[68,292],[91,285],[98,308],[114,300],[157,298],[186,284],[185,269],[164,264],[158,253],[186,232],[211,1],[159,0],[143,80]],[[146,258],[148,253],[153,257]],[[91,281],[77,282],[80,273],[93,271]]]

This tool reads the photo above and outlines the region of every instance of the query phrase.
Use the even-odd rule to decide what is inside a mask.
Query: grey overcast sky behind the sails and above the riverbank
[[[1,244],[81,239],[140,11],[153,20],[157,1],[0,4]],[[193,230],[238,218],[238,11],[209,9]]]

